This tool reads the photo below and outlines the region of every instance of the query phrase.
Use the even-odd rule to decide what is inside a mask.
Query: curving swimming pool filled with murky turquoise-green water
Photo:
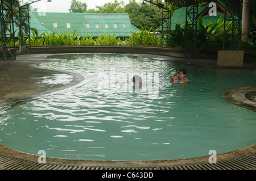
[[[201,157],[255,143],[255,113],[221,98],[226,90],[254,86],[253,70],[114,54],[51,58],[62,61],[38,66],[79,73],[84,84],[2,112],[1,144],[55,158],[138,161]],[[183,67],[189,83],[172,84],[169,76]],[[134,74],[141,75],[142,89],[133,89]],[[57,83],[72,81],[59,76]]]

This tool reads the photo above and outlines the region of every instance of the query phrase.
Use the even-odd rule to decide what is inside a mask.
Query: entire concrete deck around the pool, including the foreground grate
[[[84,77],[70,72],[35,68],[35,64],[49,62],[50,54],[20,54],[16,60],[0,60],[0,112],[18,104],[38,99],[46,94],[79,85]],[[255,64],[244,64],[243,68],[218,67],[214,60],[197,60],[169,56],[134,54],[144,58],[162,58],[170,61],[187,61],[199,66],[221,69],[253,69]],[[53,74],[71,74],[74,79],[67,85],[37,83],[43,77]],[[227,90],[222,97],[232,104],[256,111],[256,86]],[[85,161],[73,159],[46,158],[38,163],[39,155],[16,151],[0,144],[0,170],[105,170],[105,169],[156,169],[156,170],[251,170],[256,169],[256,144],[216,155],[217,163],[209,163],[209,156],[157,161]]]

